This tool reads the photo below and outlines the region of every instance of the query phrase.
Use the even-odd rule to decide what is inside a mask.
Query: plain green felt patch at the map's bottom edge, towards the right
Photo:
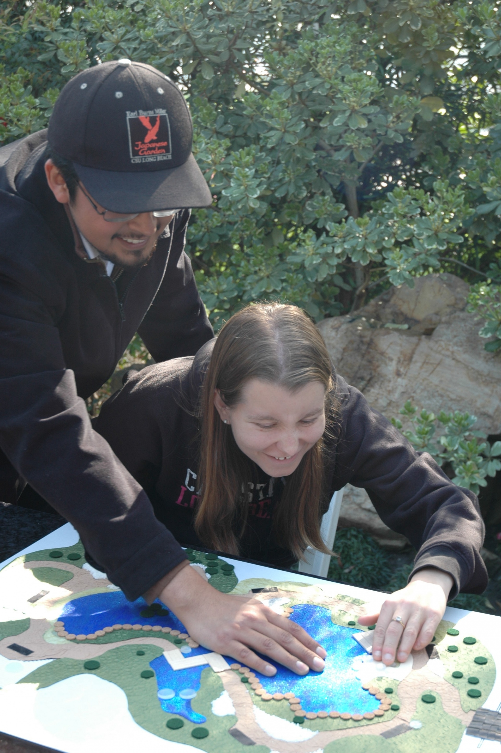
[[[432,704],[417,700],[413,720],[421,722],[420,730],[411,729],[389,739],[380,735],[344,737],[325,745],[324,753],[456,753],[463,737],[463,724],[444,712],[440,696],[435,695],[436,701]]]

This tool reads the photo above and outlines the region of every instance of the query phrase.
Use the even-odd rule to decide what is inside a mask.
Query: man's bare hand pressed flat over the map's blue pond
[[[325,667],[325,649],[302,627],[258,599],[220,593],[192,567],[180,570],[160,599],[195,641],[263,675],[276,674],[276,668],[255,651],[298,675],[306,675],[309,669],[321,672]]]

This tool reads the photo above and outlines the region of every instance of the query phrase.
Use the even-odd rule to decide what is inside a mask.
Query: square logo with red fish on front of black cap
[[[130,162],[160,162],[170,160],[169,116],[165,110],[127,111]]]

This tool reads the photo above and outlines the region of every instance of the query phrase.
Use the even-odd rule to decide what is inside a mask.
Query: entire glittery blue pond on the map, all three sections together
[[[171,629],[185,633],[185,627],[172,613],[164,616],[141,617],[140,612],[145,609],[145,602],[138,599],[128,602],[121,591],[109,593],[93,593],[72,599],[67,602],[60,614],[65,630],[69,633],[95,633],[96,630],[114,624],[151,624],[168,626]],[[295,675],[289,669],[278,665],[274,677],[265,677],[255,672],[256,677],[268,693],[294,693],[301,699],[304,711],[338,711],[340,714],[364,714],[373,712],[379,706],[376,700],[356,680],[351,671],[353,660],[365,654],[359,644],[353,640],[356,629],[335,625],[331,621],[328,608],[299,604],[294,607],[292,615],[295,622],[304,627],[316,641],[327,651],[325,670],[323,672],[309,672],[303,677]],[[152,634],[154,635],[154,633]],[[194,648],[188,654],[196,656],[205,654],[206,648]],[[225,657],[229,663],[234,660]],[[151,661],[154,669],[158,690],[169,688],[175,695],[169,700],[158,700],[163,711],[179,714],[195,724],[206,721],[205,717],[191,709],[191,699],[183,698],[188,691],[196,693],[200,690],[200,675],[206,666],[195,666],[188,669],[173,670],[165,657],[160,656]],[[185,691],[185,693],[183,693]],[[179,695],[179,694],[182,695]],[[270,709],[271,710],[271,709]]]

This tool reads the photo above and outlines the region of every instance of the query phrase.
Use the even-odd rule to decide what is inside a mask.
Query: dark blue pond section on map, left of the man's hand
[[[159,606],[163,604],[157,600]],[[141,617],[141,611],[146,609],[144,599],[128,602],[121,591],[107,593],[91,593],[67,602],[60,614],[59,620],[64,622],[64,629],[68,633],[95,633],[104,627],[112,625],[161,625],[185,633],[185,626],[179,622],[175,614],[170,612],[165,616]]]

